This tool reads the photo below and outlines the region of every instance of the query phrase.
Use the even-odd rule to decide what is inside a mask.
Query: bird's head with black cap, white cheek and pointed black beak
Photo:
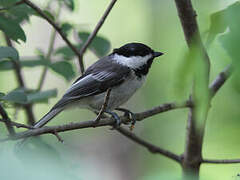
[[[153,51],[142,43],[128,43],[118,49],[114,49],[112,55],[113,60],[117,63],[146,75],[153,59],[163,55],[163,53]]]

